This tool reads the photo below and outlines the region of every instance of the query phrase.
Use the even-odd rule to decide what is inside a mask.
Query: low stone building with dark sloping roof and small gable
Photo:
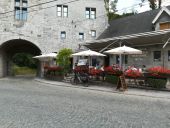
[[[126,66],[170,68],[170,6],[112,20],[97,40],[84,44],[95,51],[127,45],[142,55],[122,57]],[[106,65],[119,64],[119,55],[108,55]]]

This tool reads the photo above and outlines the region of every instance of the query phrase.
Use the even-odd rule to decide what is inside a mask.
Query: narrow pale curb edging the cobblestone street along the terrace
[[[145,94],[135,94],[135,93],[126,93],[126,92],[120,92],[120,91],[115,91],[115,90],[102,90],[102,89],[94,89],[94,88],[89,88],[89,87],[83,87],[83,86],[71,86],[71,85],[66,85],[63,82],[58,82],[57,83],[51,83],[50,81],[45,81],[41,79],[34,79],[35,81],[39,83],[45,83],[45,84],[50,84],[50,85],[55,85],[55,86],[62,86],[62,87],[69,87],[69,88],[80,88],[80,89],[87,89],[87,90],[92,90],[92,91],[100,91],[100,92],[108,92],[108,93],[116,93],[116,94],[121,94],[121,95],[129,95],[129,96],[145,96],[145,97],[150,97],[150,98],[160,98],[160,99],[168,99],[170,100],[170,97],[163,97],[163,96],[151,96],[151,95],[145,95]],[[54,87],[54,86],[53,86]],[[153,90],[155,91],[155,90]]]

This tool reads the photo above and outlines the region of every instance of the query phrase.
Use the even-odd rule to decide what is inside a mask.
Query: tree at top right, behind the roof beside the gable
[[[142,2],[144,2],[146,0],[142,0]],[[149,4],[150,4],[150,8],[152,10],[157,9],[157,8],[161,8],[161,4],[162,4],[162,0],[148,0]]]

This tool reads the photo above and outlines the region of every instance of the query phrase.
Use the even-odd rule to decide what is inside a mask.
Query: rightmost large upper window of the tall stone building
[[[86,8],[86,19],[96,19],[96,8]]]

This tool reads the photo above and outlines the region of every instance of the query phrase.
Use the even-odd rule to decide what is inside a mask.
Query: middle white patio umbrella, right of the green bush
[[[86,51],[81,51],[81,52],[78,52],[78,53],[74,53],[72,54],[72,56],[106,56],[104,54],[101,54],[99,52],[96,52],[96,51],[92,51],[92,50],[86,50]]]

